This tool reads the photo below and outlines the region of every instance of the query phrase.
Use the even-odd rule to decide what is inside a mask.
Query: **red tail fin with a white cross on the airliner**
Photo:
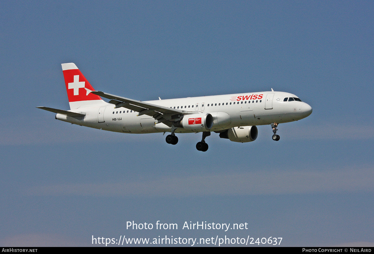
[[[77,65],[71,62],[61,64],[61,66],[64,73],[70,109],[105,104],[98,95],[90,94],[95,89],[93,89],[85,76],[83,76]]]

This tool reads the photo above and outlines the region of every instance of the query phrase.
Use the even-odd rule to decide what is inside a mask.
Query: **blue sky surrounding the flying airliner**
[[[282,237],[374,245],[372,1],[0,3],[0,245],[95,237]],[[252,143],[110,133],[69,109],[61,63],[136,100],[291,92],[313,107]],[[126,221],[249,223],[248,230],[126,230]]]

